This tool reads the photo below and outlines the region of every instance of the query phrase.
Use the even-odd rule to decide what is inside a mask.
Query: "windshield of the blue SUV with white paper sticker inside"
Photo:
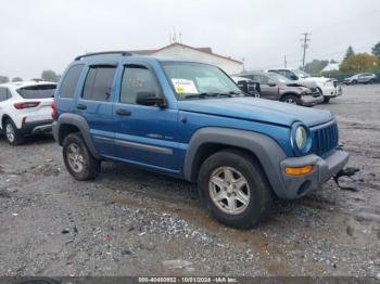
[[[242,92],[218,67],[188,62],[165,62],[164,70],[177,98],[186,100],[201,95],[240,95]]]

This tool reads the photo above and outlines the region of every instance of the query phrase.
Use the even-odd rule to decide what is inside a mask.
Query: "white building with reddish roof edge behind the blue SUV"
[[[129,52],[139,55],[154,55],[199,61],[216,65],[224,69],[227,74],[237,74],[243,70],[243,62],[241,61],[213,53],[211,48],[192,48],[178,42],[157,50],[131,50]]]

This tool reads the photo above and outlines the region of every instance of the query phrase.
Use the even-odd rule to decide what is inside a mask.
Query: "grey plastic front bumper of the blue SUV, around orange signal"
[[[294,199],[302,197],[318,189],[324,182],[335,176],[349,162],[349,154],[337,150],[326,159],[317,155],[286,158],[280,163],[284,184],[284,198]],[[313,166],[309,173],[291,176],[286,173],[286,167]]]

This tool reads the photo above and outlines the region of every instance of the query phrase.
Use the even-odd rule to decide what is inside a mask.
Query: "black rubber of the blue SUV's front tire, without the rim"
[[[228,215],[221,211],[211,199],[208,180],[212,172],[218,167],[232,167],[239,170],[246,179],[251,199],[248,208],[239,215]],[[221,151],[208,157],[202,165],[199,175],[199,186],[202,199],[210,212],[220,222],[235,228],[250,228],[255,225],[265,216],[271,205],[271,190],[261,169],[239,152]]]

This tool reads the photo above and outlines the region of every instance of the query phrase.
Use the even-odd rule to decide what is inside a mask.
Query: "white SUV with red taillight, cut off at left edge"
[[[50,132],[56,85],[21,81],[0,85],[0,132],[11,145],[26,135]]]

